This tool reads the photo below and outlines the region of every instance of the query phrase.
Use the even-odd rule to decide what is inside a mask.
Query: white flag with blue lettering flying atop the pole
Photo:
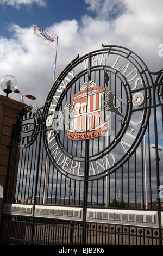
[[[45,29],[39,28],[36,24],[34,24],[34,33],[55,52],[57,51],[57,38],[55,36],[51,35]]]

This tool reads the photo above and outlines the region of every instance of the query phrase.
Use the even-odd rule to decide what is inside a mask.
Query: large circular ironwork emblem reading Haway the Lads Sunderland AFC
[[[77,180],[115,172],[145,133],[151,83],[147,66],[124,47],[103,46],[74,59],[43,108],[43,138],[54,167]]]

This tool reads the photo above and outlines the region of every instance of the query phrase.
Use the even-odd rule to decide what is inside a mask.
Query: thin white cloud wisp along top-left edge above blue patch
[[[7,4],[16,8],[20,8],[21,5],[32,5],[33,3],[40,5],[40,7],[46,7],[46,0],[0,0],[0,4]]]

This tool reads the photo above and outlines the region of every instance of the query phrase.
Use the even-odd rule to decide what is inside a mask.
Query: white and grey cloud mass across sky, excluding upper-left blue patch
[[[44,5],[45,1],[36,1]],[[121,45],[137,53],[149,70],[162,68],[159,44],[163,43],[161,21],[162,0],[85,0],[96,16],[85,15],[77,20],[64,20],[45,28],[54,36],[59,36],[56,77],[72,59],[101,48],[101,45]],[[32,4],[28,1],[5,1],[7,4]],[[39,26],[39,24],[38,24]],[[33,27],[21,28],[10,25],[10,39],[0,37],[3,57],[0,57],[0,78],[14,75],[18,89],[23,94],[37,97],[34,103],[42,107],[53,81],[55,52],[43,44],[33,33]],[[18,95],[10,97],[18,99]],[[31,103],[30,100],[26,100]],[[33,102],[32,102],[33,103]]]

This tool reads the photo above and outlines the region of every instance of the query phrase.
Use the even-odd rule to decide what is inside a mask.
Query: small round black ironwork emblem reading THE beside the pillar
[[[20,148],[29,147],[40,130],[41,112],[34,105],[28,105],[18,115],[15,129],[15,141]]]

